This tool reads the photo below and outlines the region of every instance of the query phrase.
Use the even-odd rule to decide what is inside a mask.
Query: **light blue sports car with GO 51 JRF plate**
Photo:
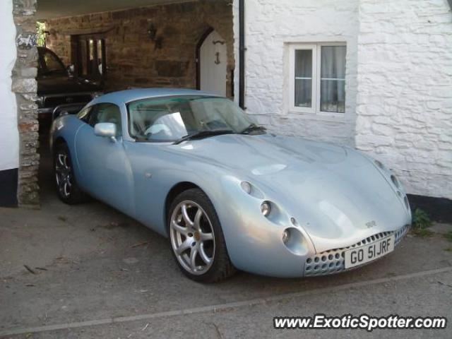
[[[51,143],[62,201],[93,196],[168,237],[193,280],[343,272],[391,253],[411,224],[381,162],[266,133],[196,90],[102,95],[56,119]]]

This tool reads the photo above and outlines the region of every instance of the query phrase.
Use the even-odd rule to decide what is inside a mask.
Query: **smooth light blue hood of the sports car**
[[[297,220],[316,251],[349,246],[410,222],[393,186],[351,148],[270,134],[215,136],[178,147],[255,185],[284,220]]]

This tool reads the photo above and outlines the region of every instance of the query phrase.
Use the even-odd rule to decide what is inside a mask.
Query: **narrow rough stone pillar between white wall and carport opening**
[[[37,153],[38,124],[35,104],[37,90],[35,3],[36,0],[13,0],[17,58],[12,73],[12,90],[16,93],[18,107],[18,203],[21,206],[39,204],[37,169],[40,155]]]

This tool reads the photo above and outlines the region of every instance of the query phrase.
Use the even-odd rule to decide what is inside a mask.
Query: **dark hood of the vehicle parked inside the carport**
[[[49,76],[37,79],[38,95],[95,92],[100,86],[95,83],[85,82],[80,78],[69,78],[69,76]]]

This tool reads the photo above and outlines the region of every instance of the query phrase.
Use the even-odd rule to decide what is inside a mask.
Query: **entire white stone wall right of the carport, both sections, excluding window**
[[[238,28],[234,1],[237,61]],[[347,42],[344,119],[289,112],[287,43],[333,40]],[[270,131],[354,145],[410,194],[452,198],[448,0],[246,0],[246,48],[247,112]]]

